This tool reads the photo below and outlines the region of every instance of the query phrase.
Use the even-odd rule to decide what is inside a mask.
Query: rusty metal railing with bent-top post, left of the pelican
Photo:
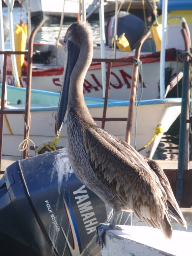
[[[2,74],[2,94],[1,94],[1,110],[0,110],[0,166],[2,158],[2,139],[3,139],[3,120],[4,114],[24,114],[24,142],[23,159],[28,158],[28,142],[29,142],[29,128],[30,128],[30,102],[31,102],[31,80],[32,80],[32,57],[33,57],[33,42],[34,38],[43,26],[45,20],[40,20],[34,30],[32,31],[27,51],[0,51],[0,54],[4,54],[3,74]],[[27,66],[27,81],[26,81],[26,104],[25,110],[6,110],[5,109],[5,90],[6,90],[6,71],[7,71],[7,55],[9,54],[28,54],[28,66]],[[0,174],[4,172],[0,171]]]

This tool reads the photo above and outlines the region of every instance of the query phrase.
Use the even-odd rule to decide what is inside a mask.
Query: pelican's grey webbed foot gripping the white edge
[[[96,243],[98,243],[102,249],[103,249],[103,235],[106,230],[110,230],[110,229],[122,230],[122,228],[116,225],[112,225],[111,223],[99,223],[96,226]]]

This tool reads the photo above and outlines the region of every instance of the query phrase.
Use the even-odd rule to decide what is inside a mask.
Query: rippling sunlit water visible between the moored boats
[[[14,27],[16,24],[20,23],[20,7],[13,8],[13,21]],[[3,7],[3,14],[8,16],[8,8]],[[27,23],[27,15],[23,9],[22,12],[22,21],[24,24]],[[100,43],[100,28],[98,20],[90,20],[90,25],[93,30],[93,38],[94,43]],[[107,20],[106,20],[107,22]],[[60,36],[64,36],[68,26],[72,24],[72,22],[65,22],[62,26],[62,31]],[[31,29],[33,30],[36,24],[32,23]],[[60,30],[60,24],[53,22],[47,22],[37,33],[34,42],[40,43],[51,43],[55,44],[56,39],[58,37],[58,33]],[[6,41],[5,44],[6,49],[10,49],[10,40]],[[158,145],[158,148],[154,154],[153,159],[162,159],[162,160],[178,160],[178,140],[179,140],[179,118],[174,122],[172,127],[166,132]],[[142,152],[141,152],[142,153]]]

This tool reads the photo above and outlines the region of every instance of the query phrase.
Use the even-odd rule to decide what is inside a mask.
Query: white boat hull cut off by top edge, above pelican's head
[[[22,0],[18,0],[21,4]],[[64,16],[65,18],[77,18],[77,14],[80,14],[83,10],[80,6],[80,1],[76,0],[56,0],[54,4],[52,2],[47,2],[46,0],[25,0],[23,1],[23,8],[28,14],[28,10],[30,8],[30,17],[31,19],[42,19],[44,18],[46,21],[52,21],[54,19],[60,19],[62,16],[62,10],[64,8]],[[96,18],[99,16],[99,1],[98,0],[86,0],[85,9],[86,15],[92,16]],[[136,2],[136,3],[134,3]],[[156,0],[155,2],[158,2]],[[118,3],[119,6],[121,3]],[[125,1],[122,3],[122,9],[127,10],[130,1]],[[145,4],[145,6],[147,6]],[[142,9],[142,1],[133,1],[132,8]],[[104,1],[104,13],[106,16],[110,16],[114,14],[115,10],[115,1],[114,0],[105,0]]]

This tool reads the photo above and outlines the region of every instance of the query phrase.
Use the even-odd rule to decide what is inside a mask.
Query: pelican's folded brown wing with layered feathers
[[[150,167],[147,170],[131,162],[92,128],[84,131],[84,148],[95,170],[122,202],[126,202],[140,220],[160,228],[165,234],[166,226],[170,227],[167,204],[150,174]]]

